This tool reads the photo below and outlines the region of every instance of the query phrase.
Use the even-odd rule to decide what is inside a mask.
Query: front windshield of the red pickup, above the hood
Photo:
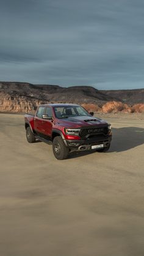
[[[68,117],[77,117],[82,115],[91,116],[84,108],[81,106],[60,106],[54,108],[56,117],[59,119],[64,119]]]

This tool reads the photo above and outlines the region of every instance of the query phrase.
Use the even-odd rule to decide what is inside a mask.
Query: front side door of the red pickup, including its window
[[[52,108],[46,107],[45,114],[48,115],[49,117],[52,117]],[[53,120],[43,119],[43,133],[49,137],[51,137],[52,122]]]

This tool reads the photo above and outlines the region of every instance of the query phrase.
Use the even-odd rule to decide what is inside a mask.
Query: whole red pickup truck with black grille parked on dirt
[[[111,125],[77,104],[43,104],[24,119],[27,141],[52,144],[57,159],[66,159],[73,151],[109,150]]]

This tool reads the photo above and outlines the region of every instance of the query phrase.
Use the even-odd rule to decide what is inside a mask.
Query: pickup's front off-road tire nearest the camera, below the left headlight
[[[59,160],[66,159],[68,157],[68,147],[66,147],[62,137],[60,136],[54,137],[54,140],[52,142],[52,150],[54,156]]]

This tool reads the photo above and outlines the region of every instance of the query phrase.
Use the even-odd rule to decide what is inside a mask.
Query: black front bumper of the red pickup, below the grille
[[[109,136],[94,136],[87,139],[81,140],[66,140],[67,147],[70,148],[71,151],[84,151],[91,150],[92,145],[104,144],[104,147],[108,147],[110,142],[112,141],[112,135]]]

